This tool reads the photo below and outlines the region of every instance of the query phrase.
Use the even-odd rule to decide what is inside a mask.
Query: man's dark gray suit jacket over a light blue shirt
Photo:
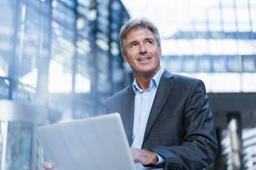
[[[129,86],[108,101],[132,142],[134,91]],[[202,169],[217,154],[213,116],[203,81],[164,71],[148,118],[143,149],[165,158],[164,169]]]

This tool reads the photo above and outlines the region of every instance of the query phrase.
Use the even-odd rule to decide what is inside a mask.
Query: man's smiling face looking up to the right
[[[160,69],[161,47],[154,34],[146,29],[130,31],[125,38],[124,61],[131,66],[134,75],[155,75]]]

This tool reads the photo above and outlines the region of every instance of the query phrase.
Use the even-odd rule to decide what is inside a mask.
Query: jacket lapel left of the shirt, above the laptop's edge
[[[123,117],[124,129],[130,146],[132,145],[134,98],[135,94],[132,86],[130,86],[122,99],[123,115],[121,116]]]

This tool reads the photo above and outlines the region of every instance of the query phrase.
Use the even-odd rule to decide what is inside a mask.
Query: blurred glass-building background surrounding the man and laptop
[[[256,169],[256,0],[1,0],[2,170],[41,169],[39,125],[105,113],[134,79],[119,30],[142,16],[162,67],[205,83],[220,148],[207,169]]]

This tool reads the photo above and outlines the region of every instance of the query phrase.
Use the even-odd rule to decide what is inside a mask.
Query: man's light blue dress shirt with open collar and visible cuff
[[[143,91],[139,87],[137,80],[134,79],[132,88],[135,93],[134,100],[134,120],[133,120],[133,131],[132,131],[132,148],[141,149],[142,142],[146,130],[146,125],[148,122],[149,113],[153,105],[153,101],[156,95],[156,90],[161,79],[164,69],[161,69],[156,73],[156,75],[150,81],[150,87]],[[161,164],[164,162],[164,158],[156,154],[159,162]],[[156,164],[156,165],[157,165]],[[142,164],[135,164],[136,169],[141,169],[144,166]]]

